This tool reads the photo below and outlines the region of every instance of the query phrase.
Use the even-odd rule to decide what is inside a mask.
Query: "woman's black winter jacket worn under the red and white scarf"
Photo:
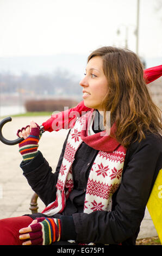
[[[68,135],[67,135],[68,137]],[[63,160],[67,138],[55,172],[40,151],[32,161],[20,164],[29,185],[48,205],[55,199],[57,179]],[[79,243],[135,245],[144,218],[146,204],[155,179],[162,167],[161,137],[149,134],[146,139],[132,143],[124,161],[121,185],[113,194],[111,212],[83,212],[86,184],[92,163],[98,153],[84,142],[77,150],[73,162],[74,189],[62,214],[51,217],[61,219],[61,240]],[[30,215],[32,218],[42,214]]]

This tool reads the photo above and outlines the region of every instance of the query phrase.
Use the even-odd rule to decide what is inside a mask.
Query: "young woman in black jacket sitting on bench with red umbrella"
[[[20,166],[47,207],[1,220],[1,245],[135,245],[162,166],[160,111],[126,49],[92,52],[80,86],[90,111],[68,132],[54,173],[38,150],[38,125],[23,132]]]

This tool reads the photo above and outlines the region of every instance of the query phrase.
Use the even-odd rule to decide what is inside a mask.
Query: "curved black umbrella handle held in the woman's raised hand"
[[[11,117],[7,117],[7,118],[4,118],[2,121],[0,121],[0,141],[2,141],[4,144],[7,144],[7,145],[16,145],[20,142],[22,142],[24,140],[24,138],[17,138],[17,139],[14,139],[14,141],[9,141],[8,139],[5,139],[2,135],[2,127],[5,123],[8,123],[12,121],[12,118]],[[43,128],[43,126],[40,126],[40,132],[43,133],[45,130]]]

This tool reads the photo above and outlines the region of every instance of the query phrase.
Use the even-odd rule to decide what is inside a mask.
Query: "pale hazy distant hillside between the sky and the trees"
[[[56,54],[53,56],[0,57],[0,72],[31,75],[51,73],[56,69],[69,71],[79,79],[83,77],[88,56],[79,54]],[[145,59],[146,68],[162,64],[162,57]]]

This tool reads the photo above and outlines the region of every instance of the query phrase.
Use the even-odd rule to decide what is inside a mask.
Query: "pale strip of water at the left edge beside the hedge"
[[[24,106],[0,106],[0,117],[26,113]]]

